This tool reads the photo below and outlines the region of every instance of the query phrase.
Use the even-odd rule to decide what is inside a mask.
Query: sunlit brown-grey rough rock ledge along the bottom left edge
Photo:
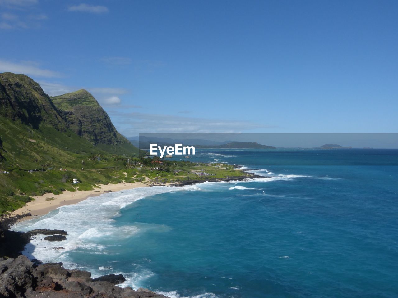
[[[106,280],[116,283],[125,279],[122,275],[92,279],[90,272],[67,270],[62,263],[35,266],[23,255],[0,261],[0,297],[166,298],[143,288],[120,288]]]

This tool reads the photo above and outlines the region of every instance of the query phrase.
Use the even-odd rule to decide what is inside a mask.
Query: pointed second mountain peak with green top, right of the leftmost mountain
[[[63,113],[68,127],[94,145],[129,143],[117,132],[108,114],[88,91],[82,89],[51,99]]]

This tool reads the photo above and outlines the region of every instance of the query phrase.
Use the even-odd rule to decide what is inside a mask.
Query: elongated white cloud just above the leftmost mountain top
[[[21,61],[19,63],[0,60],[0,72],[14,72],[16,74],[33,75],[37,77],[62,77],[59,72],[39,68],[37,63]]]

